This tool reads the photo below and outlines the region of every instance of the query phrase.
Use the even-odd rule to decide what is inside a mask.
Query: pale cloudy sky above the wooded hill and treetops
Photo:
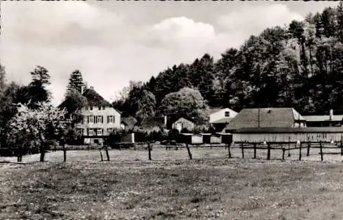
[[[23,85],[48,69],[52,104],[71,72],[112,102],[130,80],[148,80],[205,53],[215,59],[265,28],[303,20],[334,1],[0,1],[0,62]]]

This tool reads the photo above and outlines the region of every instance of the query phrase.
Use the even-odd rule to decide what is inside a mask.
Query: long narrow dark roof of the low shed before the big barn
[[[343,126],[309,127],[245,127],[232,133],[343,133]]]

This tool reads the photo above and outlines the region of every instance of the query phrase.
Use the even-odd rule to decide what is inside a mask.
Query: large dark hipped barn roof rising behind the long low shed
[[[304,120],[293,108],[262,108],[241,110],[226,130],[236,130],[243,127],[292,127],[295,120]]]

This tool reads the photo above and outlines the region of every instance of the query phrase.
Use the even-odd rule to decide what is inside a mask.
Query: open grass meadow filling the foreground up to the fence
[[[30,164],[0,164],[0,219],[343,219],[339,155],[299,162],[296,153],[267,161],[240,159],[239,149],[233,159],[224,148],[191,151],[193,160],[161,148],[152,161],[147,151],[113,150],[110,162],[68,151],[62,163],[58,151],[44,163],[27,155]]]

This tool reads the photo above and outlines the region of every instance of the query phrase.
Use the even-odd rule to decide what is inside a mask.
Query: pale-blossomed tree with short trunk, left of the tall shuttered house
[[[69,126],[70,120],[64,118],[65,111],[47,102],[39,102],[37,109],[29,109],[18,104],[18,113],[10,121],[10,140],[13,143],[37,146],[40,162],[44,162],[45,150],[49,140],[61,135]]]

